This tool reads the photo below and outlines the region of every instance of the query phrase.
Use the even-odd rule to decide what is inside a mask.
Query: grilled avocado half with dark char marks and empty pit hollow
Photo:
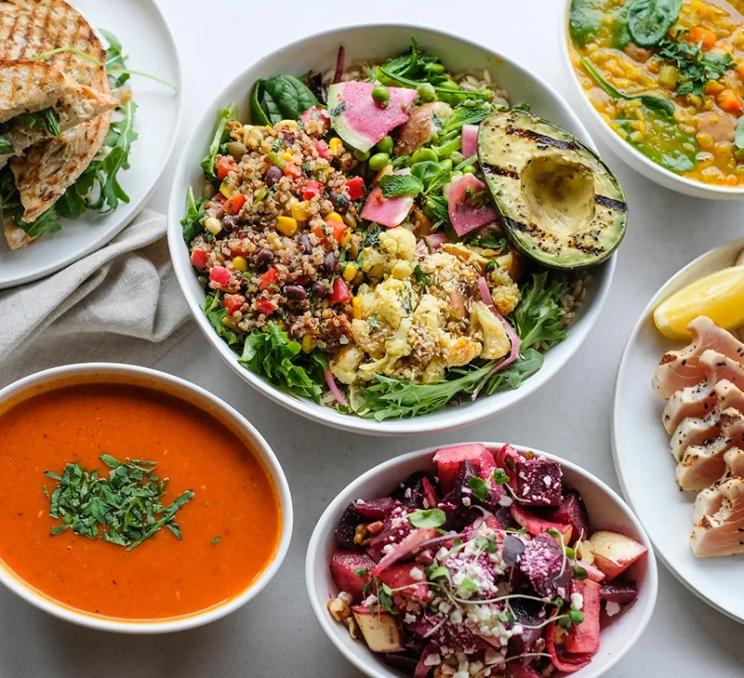
[[[489,115],[478,131],[478,161],[505,235],[552,268],[592,266],[625,235],[620,183],[568,132],[526,111]]]

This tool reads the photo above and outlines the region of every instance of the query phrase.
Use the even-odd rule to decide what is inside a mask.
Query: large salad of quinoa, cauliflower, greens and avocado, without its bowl
[[[593,151],[415,40],[259,80],[210,141],[182,220],[208,319],[246,368],[348,414],[517,388],[625,231]]]

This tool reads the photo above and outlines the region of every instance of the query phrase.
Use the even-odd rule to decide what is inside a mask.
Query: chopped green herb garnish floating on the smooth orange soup
[[[104,539],[128,551],[163,527],[181,539],[175,516],[178,509],[191,501],[194,496],[191,490],[165,505],[163,494],[168,479],[155,475],[156,462],[139,459],[122,462],[110,454],[102,454],[100,459],[109,468],[108,478],[102,477],[98,469],[86,471],[74,462],[67,464],[61,475],[44,472],[58,483],[51,494],[44,488],[49,499],[49,515],[62,521],[52,528],[52,536],[71,529],[82,537]],[[212,543],[216,542],[212,540]]]

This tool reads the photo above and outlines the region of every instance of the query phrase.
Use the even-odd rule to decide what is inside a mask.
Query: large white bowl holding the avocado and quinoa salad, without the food
[[[406,50],[415,35],[422,49],[440,55],[453,71],[487,68],[494,80],[505,87],[516,102],[528,101],[539,115],[554,121],[593,147],[581,122],[553,88],[513,61],[462,38],[431,29],[414,26],[378,25],[334,29],[283,47],[241,73],[204,112],[183,148],[176,168],[168,208],[168,244],[171,259],[186,301],[194,318],[209,342],[228,365],[255,389],[274,402],[304,417],[335,428],[376,435],[429,433],[465,426],[500,412],[542,386],[576,352],[594,325],[604,303],[615,270],[615,257],[594,269],[594,278],[586,302],[577,313],[568,337],[545,356],[542,369],[520,388],[460,407],[449,407],[414,419],[377,422],[345,415],[333,408],[318,405],[279,390],[263,377],[238,364],[238,356],[217,336],[202,311],[204,291],[196,280],[189,261],[188,248],[183,241],[180,219],[184,214],[184,200],[189,186],[201,190],[199,161],[204,156],[211,137],[215,114],[219,107],[230,102],[241,104],[240,114],[247,118],[247,99],[258,78],[278,73],[304,73],[308,69],[325,72],[333,66],[339,45],[346,48],[347,63],[355,60],[383,59]]]

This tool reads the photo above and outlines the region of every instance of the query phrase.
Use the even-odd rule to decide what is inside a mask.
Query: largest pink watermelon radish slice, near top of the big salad
[[[388,87],[390,99],[381,106],[372,98],[374,84],[348,80],[328,86],[331,125],[349,146],[366,152],[396,127],[408,121],[418,94],[407,87]]]

